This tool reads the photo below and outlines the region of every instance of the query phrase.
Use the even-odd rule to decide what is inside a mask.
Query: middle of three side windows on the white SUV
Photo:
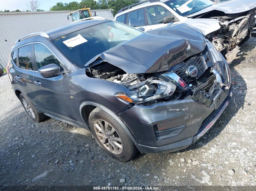
[[[144,9],[139,9],[129,13],[128,25],[131,27],[145,26]]]

